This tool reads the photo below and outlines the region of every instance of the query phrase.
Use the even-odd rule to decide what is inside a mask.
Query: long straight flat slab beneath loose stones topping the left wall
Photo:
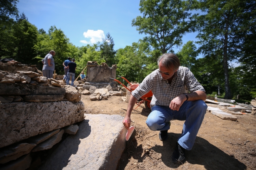
[[[65,95],[64,88],[31,84],[0,83],[0,95]]]

